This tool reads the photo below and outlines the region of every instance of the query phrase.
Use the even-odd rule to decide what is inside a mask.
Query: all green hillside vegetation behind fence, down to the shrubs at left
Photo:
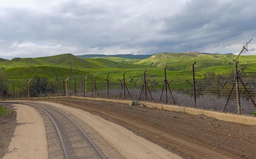
[[[124,55],[123,55],[124,56]],[[209,86],[209,83],[203,81],[222,80],[226,81],[234,75],[234,62],[232,61],[236,55],[213,55],[204,53],[158,53],[150,57],[139,60],[132,55],[133,58],[109,57],[104,58],[80,58],[72,54],[55,55],[49,57],[38,58],[13,58],[12,60],[0,59],[1,80],[0,98],[10,97],[14,91],[24,92],[20,96],[25,96],[27,84],[30,79],[31,85],[37,86],[39,83],[44,84],[47,81],[47,91],[58,94],[50,90],[50,87],[61,90],[63,82],[67,77],[70,81],[76,78],[82,81],[85,76],[92,87],[92,80],[97,74],[98,83],[106,83],[107,75],[110,82],[119,83],[126,77],[128,86],[141,86],[144,83],[144,71],[146,71],[146,79],[152,82],[154,86],[162,86],[164,84],[164,68],[166,68],[166,77],[171,84],[172,89],[182,88],[190,89],[188,82],[193,80],[192,65],[195,63],[195,80],[199,88]],[[141,57],[142,58],[142,57]],[[243,56],[238,58],[238,70],[240,75],[256,75],[256,55]],[[166,67],[168,66],[168,67]],[[133,80],[132,80],[133,79]],[[8,80],[8,82],[7,82]],[[120,81],[119,81],[120,80]],[[187,84],[184,84],[186,82]],[[12,84],[15,83],[14,88]],[[232,84],[231,84],[232,86]],[[33,92],[42,93],[45,91],[45,85],[37,86]],[[103,87],[106,87],[103,86]],[[209,89],[209,88],[207,88]],[[206,90],[207,91],[207,90]],[[209,90],[211,91],[211,90]],[[33,97],[36,96],[32,94]]]

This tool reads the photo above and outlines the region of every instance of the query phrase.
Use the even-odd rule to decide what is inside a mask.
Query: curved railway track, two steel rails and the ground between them
[[[50,106],[47,104],[39,104],[39,103],[33,103],[33,102],[3,102],[3,103],[14,103],[14,104],[25,104],[28,106],[33,106],[35,108],[38,108],[39,110],[42,110],[52,121],[54,124],[56,131],[58,132],[58,136],[61,142],[61,146],[63,149],[63,152],[65,154],[66,159],[70,158],[80,158],[82,157],[86,152],[86,149],[83,149],[83,147],[90,147],[90,151],[92,148],[95,150],[95,152],[90,152],[90,153],[95,153],[94,155],[99,156],[101,159],[106,159],[105,155],[101,150],[97,147],[96,144],[92,141],[92,139],[83,131],[83,129],[76,124],[76,122],[68,117],[65,113],[63,113],[61,110],[58,110],[57,108],[54,108],[54,106]],[[65,119],[64,119],[65,118]],[[79,131],[76,131],[78,129]],[[69,130],[73,130],[72,132]],[[70,136],[73,135],[73,133],[80,133],[79,138],[76,139],[76,141],[72,141],[73,139],[70,139]],[[77,136],[77,135],[76,135]],[[81,137],[83,136],[83,137]],[[82,140],[81,140],[82,139]],[[87,141],[86,141],[87,140]],[[74,142],[72,144],[72,142]],[[80,149],[79,148],[72,148],[72,146],[77,145],[77,142],[82,142],[80,143]],[[90,144],[91,146],[88,146]],[[80,152],[76,153],[75,151],[79,149],[79,151],[83,151],[83,153]],[[81,156],[82,155],[82,156]]]

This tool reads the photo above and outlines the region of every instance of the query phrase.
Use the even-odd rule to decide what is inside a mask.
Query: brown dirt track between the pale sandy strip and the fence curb
[[[99,115],[187,159],[256,158],[256,126],[103,101],[47,102]]]

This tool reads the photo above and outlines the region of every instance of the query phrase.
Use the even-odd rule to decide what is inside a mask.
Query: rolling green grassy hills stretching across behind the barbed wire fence
[[[234,59],[236,55],[212,55],[203,53],[158,53],[143,60],[127,59],[122,57],[104,58],[80,58],[72,54],[55,55],[38,58],[14,58],[1,60],[0,68],[6,72],[10,80],[29,80],[35,75],[47,79],[66,79],[72,77],[93,78],[97,74],[98,80],[105,80],[109,74],[112,81],[123,79],[126,73],[127,79],[143,79],[143,72],[151,80],[164,80],[164,68],[170,79],[186,80],[192,78],[192,66],[195,68],[195,77],[201,78],[207,72],[216,75],[224,75],[234,71]],[[246,73],[256,71],[254,62],[256,55],[238,58],[238,69]]]

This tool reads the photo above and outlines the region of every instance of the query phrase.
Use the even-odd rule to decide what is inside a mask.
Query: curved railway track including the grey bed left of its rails
[[[94,141],[92,141],[92,139],[85,133],[85,131],[83,131],[83,129],[78,124],[76,124],[76,122],[71,119],[67,113],[64,113],[63,110],[59,110],[58,108],[48,104],[41,104],[36,102],[2,103],[24,104],[27,106],[32,106],[36,108],[36,110],[38,110],[38,112],[46,120],[45,123],[49,123],[49,120],[52,122],[56,129],[55,134],[56,132],[58,134],[58,139],[56,139],[56,137],[54,139],[54,137],[51,137],[51,135],[47,135],[48,143],[52,143],[49,144],[48,149],[51,149],[51,145],[58,148],[54,148],[55,151],[49,150],[49,158],[65,157],[66,159],[84,159],[93,157],[106,159],[105,155],[97,147]]]

